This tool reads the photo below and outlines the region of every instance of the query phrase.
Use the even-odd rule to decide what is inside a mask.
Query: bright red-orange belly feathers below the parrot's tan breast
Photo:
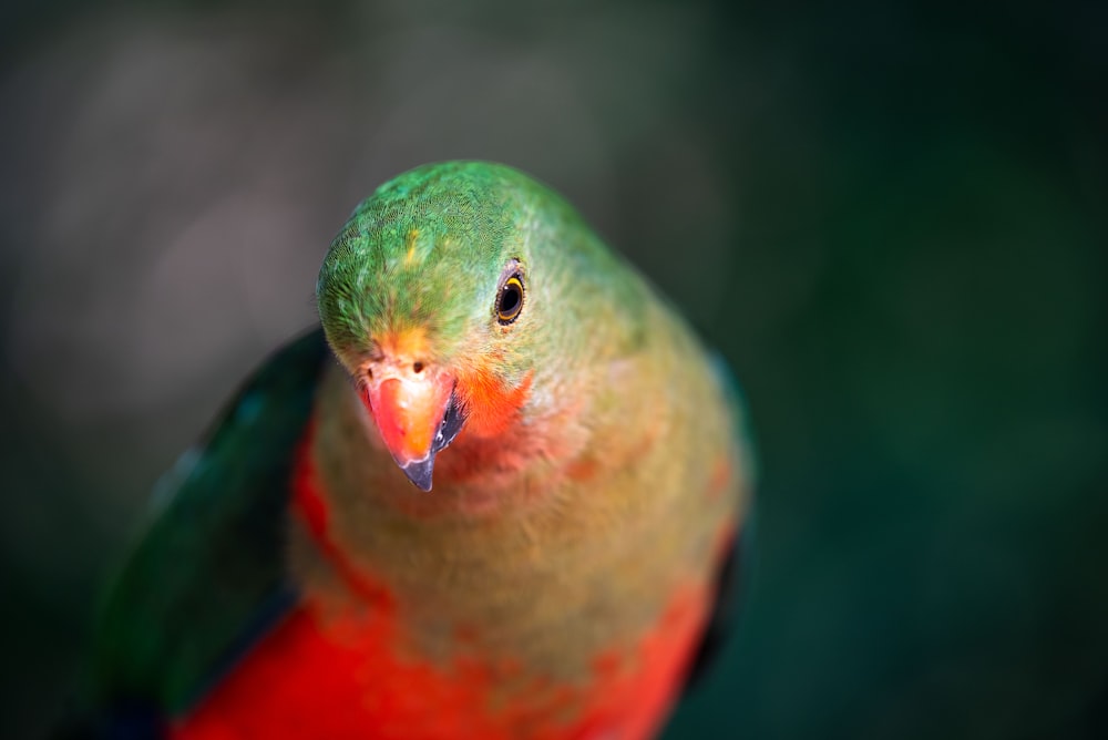
[[[294,508],[369,607],[337,615],[306,598],[174,724],[174,740],[635,740],[658,730],[702,628],[704,589],[674,594],[630,654],[595,656],[592,675],[577,684],[557,684],[503,657],[433,660],[402,647],[411,641],[388,586],[356,572],[328,537],[329,513],[310,464],[300,465]]]

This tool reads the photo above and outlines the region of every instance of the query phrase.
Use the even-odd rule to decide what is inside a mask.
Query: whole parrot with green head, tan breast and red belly
[[[319,322],[155,486],[88,737],[640,740],[730,630],[755,463],[726,363],[553,189],[366,198]]]

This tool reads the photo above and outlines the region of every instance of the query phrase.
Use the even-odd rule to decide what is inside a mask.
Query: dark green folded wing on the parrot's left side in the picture
[[[279,350],[167,474],[161,512],[102,614],[102,706],[186,710],[296,600],[285,572],[290,469],[328,354],[320,330]]]

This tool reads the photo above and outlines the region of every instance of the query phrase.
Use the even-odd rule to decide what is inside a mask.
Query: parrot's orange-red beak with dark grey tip
[[[379,363],[367,373],[366,397],[384,446],[408,480],[431,490],[434,455],[465,422],[454,378],[442,370]]]

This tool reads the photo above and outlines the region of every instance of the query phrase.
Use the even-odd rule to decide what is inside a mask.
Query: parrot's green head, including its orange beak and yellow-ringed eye
[[[550,341],[541,327],[556,287],[535,265],[536,243],[550,240],[536,193],[546,191],[499,165],[420,167],[359,205],[324,261],[327,339],[424,491],[463,426],[492,436],[515,421],[548,354],[537,346]]]

